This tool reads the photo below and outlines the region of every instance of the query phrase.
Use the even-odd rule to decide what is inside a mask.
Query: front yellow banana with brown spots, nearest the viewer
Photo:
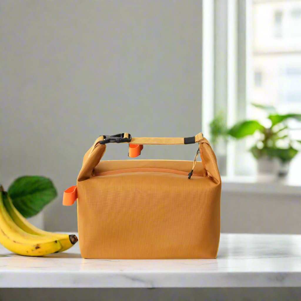
[[[0,243],[11,252],[25,256],[43,256],[58,252],[62,248],[58,240],[53,240],[50,237],[41,239],[41,237],[26,233],[22,229],[17,229],[8,217],[1,191]]]

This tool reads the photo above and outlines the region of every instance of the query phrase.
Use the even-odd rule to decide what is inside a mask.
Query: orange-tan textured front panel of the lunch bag
[[[221,183],[171,172],[94,176],[77,184],[85,258],[215,258]]]

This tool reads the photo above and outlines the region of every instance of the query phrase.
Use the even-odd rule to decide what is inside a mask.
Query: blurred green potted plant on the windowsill
[[[290,137],[289,131],[291,129],[287,125],[287,121],[288,119],[301,121],[301,114],[279,114],[272,106],[252,105],[267,111],[268,122],[266,124],[268,126],[264,126],[258,120],[244,120],[227,129],[225,122],[221,122],[221,117],[217,116],[210,123],[213,142],[220,137],[226,139],[231,136],[235,139],[241,139],[254,135],[256,141],[250,151],[257,159],[258,173],[286,175],[290,161],[301,147],[301,140],[294,140]],[[216,126],[217,124],[219,126]]]

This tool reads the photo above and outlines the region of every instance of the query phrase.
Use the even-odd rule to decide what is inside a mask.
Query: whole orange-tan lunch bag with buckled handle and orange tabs
[[[198,148],[193,162],[101,160],[113,142],[128,143],[129,157],[137,157],[147,144],[198,143]],[[220,197],[216,157],[202,133],[187,138],[122,133],[96,139],[84,156],[77,185],[64,192],[63,204],[78,200],[84,258],[216,258]]]

